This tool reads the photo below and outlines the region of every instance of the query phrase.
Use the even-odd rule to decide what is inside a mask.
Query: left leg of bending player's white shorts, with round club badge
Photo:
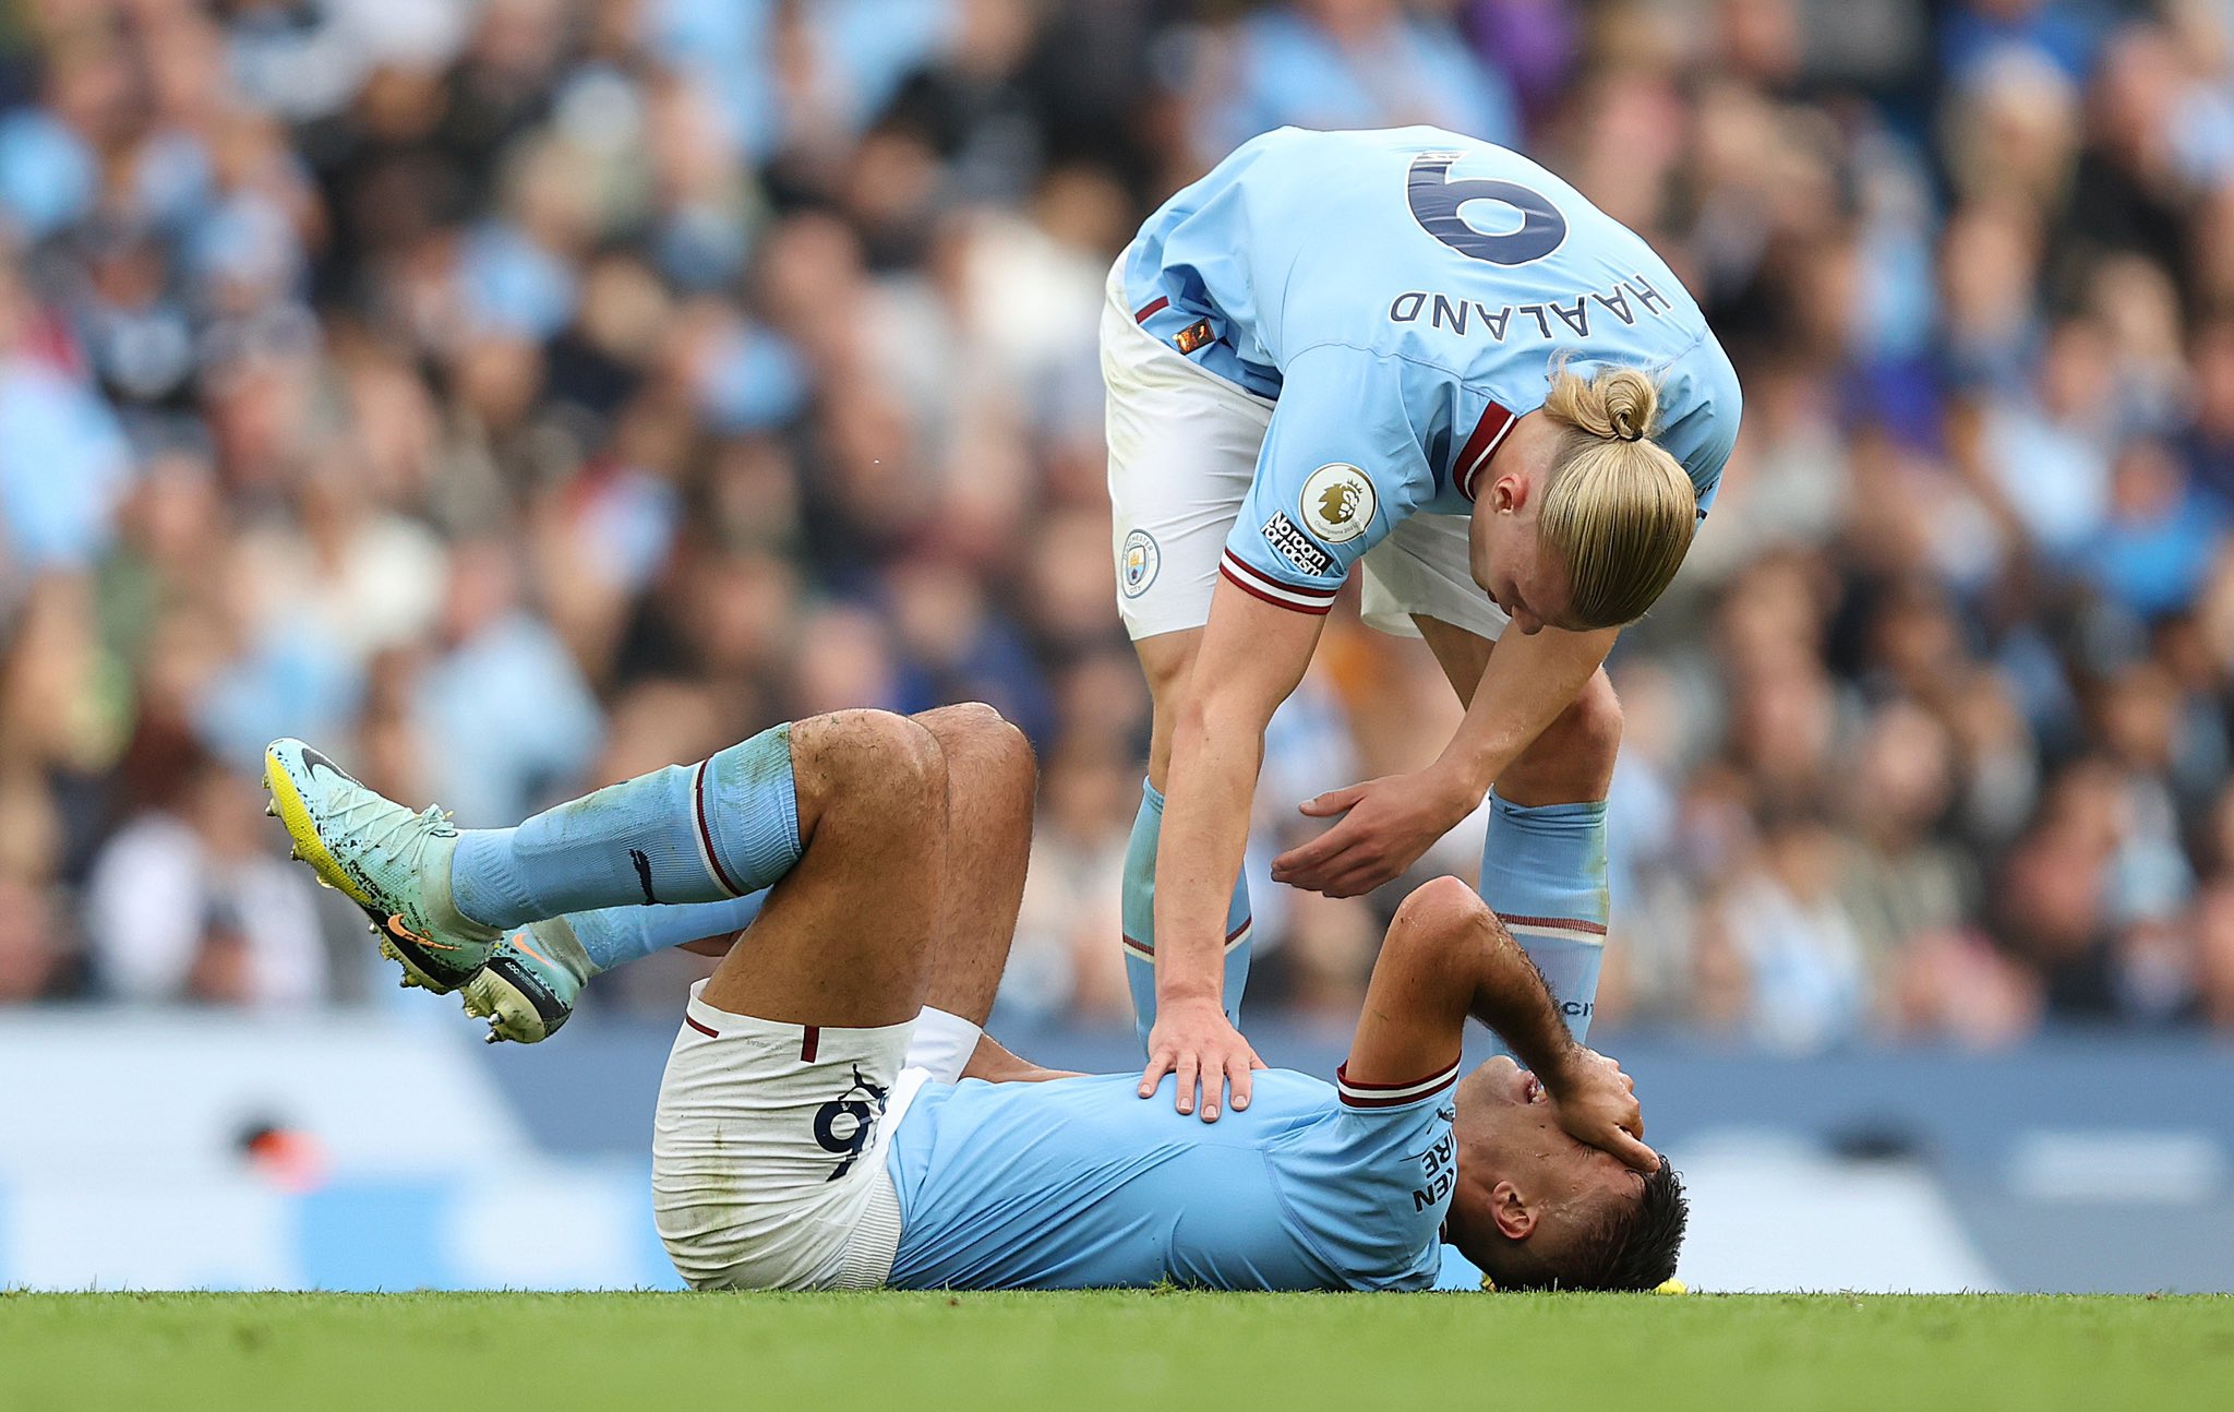
[[[1135,641],[1200,628],[1271,402],[1193,366],[1115,299],[1101,313],[1101,380],[1117,612]]]

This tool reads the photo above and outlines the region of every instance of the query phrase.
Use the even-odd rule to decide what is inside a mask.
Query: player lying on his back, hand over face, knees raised
[[[1137,1075],[985,1039],[1032,813],[990,708],[777,726],[516,829],[460,833],[293,740],[266,782],[297,856],[436,990],[541,918],[771,887],[659,1090],[657,1224],[699,1289],[1428,1289],[1443,1240],[1499,1287],[1676,1267],[1682,1189],[1629,1077],[1454,878],[1398,909],[1334,1086],[1267,1070],[1211,1126],[1173,1110],[1186,1075],[1144,1101]],[[1461,1079],[1468,1014],[1528,1068]]]

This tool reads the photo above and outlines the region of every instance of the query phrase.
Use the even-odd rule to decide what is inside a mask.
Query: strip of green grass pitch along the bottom
[[[2230,1408],[2234,1298],[0,1294],[0,1408]]]

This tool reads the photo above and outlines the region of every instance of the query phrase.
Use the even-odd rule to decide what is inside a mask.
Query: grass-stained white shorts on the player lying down
[[[699,1289],[853,1289],[891,1269],[887,1139],[914,1021],[791,1025],[695,985],[652,1117],[652,1218]]]

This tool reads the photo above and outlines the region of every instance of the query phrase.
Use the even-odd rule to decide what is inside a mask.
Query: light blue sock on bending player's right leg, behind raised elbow
[[[1524,809],[1490,793],[1481,900],[1544,972],[1566,1028],[1584,1043],[1606,958],[1606,802]]]

